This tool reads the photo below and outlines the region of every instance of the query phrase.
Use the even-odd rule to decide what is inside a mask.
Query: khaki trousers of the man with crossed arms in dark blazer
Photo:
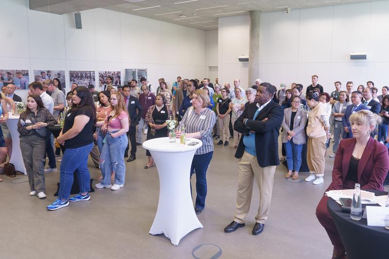
[[[264,224],[269,214],[271,193],[276,166],[260,167],[257,157],[245,151],[239,160],[239,184],[236,195],[236,212],[234,221],[245,223],[245,217],[250,209],[254,176],[259,188],[259,207],[255,217],[257,223]]]

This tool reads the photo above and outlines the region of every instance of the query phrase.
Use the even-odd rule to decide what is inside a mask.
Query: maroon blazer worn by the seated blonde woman
[[[342,190],[343,179],[349,172],[355,138],[342,139],[336,151],[332,183],[327,190]],[[358,183],[364,190],[384,190],[383,183],[389,170],[388,148],[370,138],[358,163]]]

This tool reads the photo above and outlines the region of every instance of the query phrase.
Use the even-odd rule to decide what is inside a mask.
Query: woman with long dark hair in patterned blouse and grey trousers
[[[56,123],[53,115],[43,105],[37,94],[27,97],[26,110],[20,114],[18,132],[20,134],[20,150],[26,168],[30,195],[37,194],[39,199],[46,198],[44,159],[46,151],[46,135],[50,134],[47,126]]]

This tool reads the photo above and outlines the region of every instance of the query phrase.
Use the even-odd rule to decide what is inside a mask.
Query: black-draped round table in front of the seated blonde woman
[[[380,190],[369,191],[376,196],[388,194]],[[348,259],[389,258],[389,230],[383,226],[368,226],[367,219],[352,220],[350,213],[343,213],[340,204],[331,198],[328,199],[327,209],[334,220]]]

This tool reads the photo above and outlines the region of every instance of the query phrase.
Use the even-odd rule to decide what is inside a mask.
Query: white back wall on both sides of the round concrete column
[[[318,74],[328,92],[337,80],[343,88],[349,80],[355,89],[368,80],[388,85],[388,13],[386,0],[261,14],[260,78],[305,88]],[[240,77],[247,85],[248,64],[236,60],[248,54],[248,31],[248,16],[219,18],[219,80]],[[368,59],[350,60],[350,52],[367,52]]]

